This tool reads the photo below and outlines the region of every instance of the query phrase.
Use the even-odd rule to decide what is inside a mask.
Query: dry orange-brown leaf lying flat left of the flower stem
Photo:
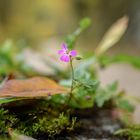
[[[0,89],[0,97],[47,97],[54,94],[68,93],[68,89],[55,81],[43,77],[27,80],[9,80]]]

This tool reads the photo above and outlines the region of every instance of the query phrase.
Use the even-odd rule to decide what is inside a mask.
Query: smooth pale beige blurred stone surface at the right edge
[[[140,98],[140,70],[128,64],[114,64],[100,70],[98,74],[103,86],[118,81],[120,90]],[[137,104],[133,118],[135,123],[140,123],[140,104]]]

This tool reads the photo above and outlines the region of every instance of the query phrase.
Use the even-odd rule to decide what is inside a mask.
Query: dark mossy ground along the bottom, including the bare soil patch
[[[2,106],[0,109],[0,138],[8,137],[8,130],[11,128],[20,134],[34,138],[53,139],[60,134],[62,134],[60,137],[70,136],[71,138],[69,134],[72,134],[72,138],[74,136],[77,138],[80,135],[80,137],[113,138],[114,140],[140,139],[140,126],[127,128],[123,126],[124,129],[122,129],[121,122],[110,118],[111,109],[100,110],[96,108],[79,111],[74,111],[73,115],[77,116],[77,119],[81,120],[83,124],[80,129],[75,130],[77,128],[76,119],[71,117],[71,112],[66,106],[59,106],[46,100],[10,103],[10,105]],[[111,129],[106,130],[105,128]],[[116,136],[112,129],[114,132],[118,129]],[[69,133],[71,131],[73,133]],[[63,134],[68,135],[64,136]]]

